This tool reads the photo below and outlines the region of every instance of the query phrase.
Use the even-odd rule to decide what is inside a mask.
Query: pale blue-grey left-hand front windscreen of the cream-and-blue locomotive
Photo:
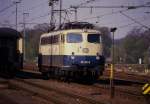
[[[82,42],[82,35],[78,33],[69,33],[67,34],[68,43],[80,43]]]

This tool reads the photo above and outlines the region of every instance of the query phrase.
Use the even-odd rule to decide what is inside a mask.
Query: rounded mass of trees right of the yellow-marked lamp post
[[[150,64],[150,30],[132,29],[125,38],[115,42],[115,62]]]

